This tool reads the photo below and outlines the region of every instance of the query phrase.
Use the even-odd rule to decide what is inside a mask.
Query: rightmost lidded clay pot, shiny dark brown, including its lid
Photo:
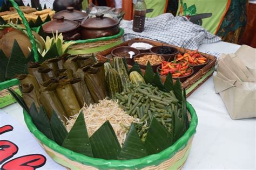
[[[114,36],[119,33],[119,22],[103,13],[97,13],[96,17],[84,19],[81,24],[82,39],[93,39]]]

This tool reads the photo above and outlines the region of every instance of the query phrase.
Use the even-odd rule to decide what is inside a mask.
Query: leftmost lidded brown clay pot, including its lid
[[[47,36],[52,37],[52,33],[62,33],[64,40],[80,39],[80,28],[77,22],[65,19],[63,16],[56,16],[52,21],[43,25],[43,30]]]

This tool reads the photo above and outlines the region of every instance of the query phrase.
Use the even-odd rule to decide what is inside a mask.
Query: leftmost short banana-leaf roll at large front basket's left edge
[[[32,103],[35,103],[37,111],[39,111],[40,109],[39,91],[33,87],[33,84],[22,84],[20,88],[21,88],[22,97],[26,103],[26,106],[30,108]]]

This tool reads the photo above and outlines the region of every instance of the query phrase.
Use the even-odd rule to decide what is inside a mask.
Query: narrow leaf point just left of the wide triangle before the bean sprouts
[[[64,139],[68,135],[68,132],[66,131],[66,128],[63,125],[62,121],[60,121],[60,119],[58,118],[55,110],[52,111],[50,125],[56,143],[61,146]]]

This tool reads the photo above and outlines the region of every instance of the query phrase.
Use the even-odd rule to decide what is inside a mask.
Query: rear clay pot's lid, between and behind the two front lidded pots
[[[65,19],[73,20],[73,21],[81,21],[84,18],[87,18],[87,13],[75,10],[73,7],[67,7],[66,10],[57,12],[53,18],[64,16]]]

